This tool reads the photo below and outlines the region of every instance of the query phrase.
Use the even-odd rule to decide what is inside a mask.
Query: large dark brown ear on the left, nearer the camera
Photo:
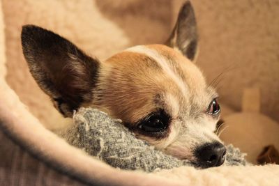
[[[22,49],[33,78],[63,116],[72,116],[93,99],[98,60],[56,33],[33,25],[22,27]]]

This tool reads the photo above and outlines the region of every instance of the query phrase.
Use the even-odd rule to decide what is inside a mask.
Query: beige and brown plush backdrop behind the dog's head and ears
[[[22,56],[22,24],[37,24],[104,60],[133,45],[169,35],[182,0],[2,0],[10,86],[52,129],[63,120],[29,74]],[[279,1],[193,0],[199,27],[197,65],[217,85],[223,102],[241,109],[243,88],[259,87],[262,112],[279,121]],[[218,82],[218,81],[217,81]]]

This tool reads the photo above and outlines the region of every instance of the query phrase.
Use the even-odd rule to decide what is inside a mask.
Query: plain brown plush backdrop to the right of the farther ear
[[[182,0],[174,0],[175,14]],[[241,109],[243,88],[259,87],[261,111],[279,121],[279,1],[192,0],[199,58],[209,82],[220,74],[222,100]]]

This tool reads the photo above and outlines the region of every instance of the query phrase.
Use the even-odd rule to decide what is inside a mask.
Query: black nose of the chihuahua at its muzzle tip
[[[225,162],[226,148],[219,142],[213,144],[205,144],[195,150],[197,164],[207,168],[211,166],[220,166]]]

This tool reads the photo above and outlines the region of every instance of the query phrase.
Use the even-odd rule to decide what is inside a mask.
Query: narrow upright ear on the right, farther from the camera
[[[179,17],[172,34],[165,44],[179,49],[184,56],[191,61],[195,61],[197,40],[197,24],[194,9],[190,1],[186,1],[179,11]]]

